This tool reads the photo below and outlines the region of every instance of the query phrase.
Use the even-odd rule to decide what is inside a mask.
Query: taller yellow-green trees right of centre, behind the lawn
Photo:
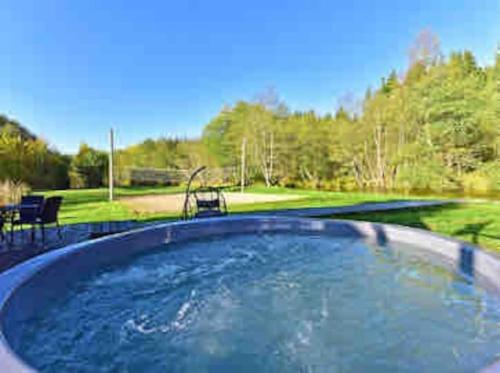
[[[246,164],[267,185],[339,190],[500,190],[500,50],[444,58],[423,32],[403,74],[392,71],[357,107],[289,112],[268,97],[214,118],[202,141],[221,165]]]

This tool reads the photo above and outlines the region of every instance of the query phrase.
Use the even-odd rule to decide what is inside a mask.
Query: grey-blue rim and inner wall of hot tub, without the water
[[[160,245],[220,234],[258,232],[364,238],[381,246],[408,244],[429,260],[438,260],[500,294],[500,260],[464,242],[419,229],[369,222],[269,216],[166,223],[67,246],[0,274],[0,372],[33,371],[10,347],[17,344],[16,326],[58,297],[71,281],[101,266],[119,264]],[[492,365],[488,371],[500,371],[496,368]]]

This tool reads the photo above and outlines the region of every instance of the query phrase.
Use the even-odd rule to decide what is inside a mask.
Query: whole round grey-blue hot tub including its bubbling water
[[[0,371],[493,371],[499,274],[393,225],[162,224],[0,275]]]

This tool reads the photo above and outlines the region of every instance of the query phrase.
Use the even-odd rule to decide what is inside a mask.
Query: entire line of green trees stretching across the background
[[[147,139],[116,152],[118,184],[132,169],[232,170],[234,184],[334,190],[500,190],[500,49],[478,65],[470,51],[443,56],[422,32],[407,69],[392,71],[334,114],[291,111],[272,90],[224,107],[201,138]],[[107,153],[51,149],[0,117],[0,180],[32,188],[105,185]]]

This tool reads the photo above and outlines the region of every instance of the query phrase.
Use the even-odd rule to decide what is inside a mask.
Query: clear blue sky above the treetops
[[[198,136],[224,103],[274,86],[292,109],[332,111],[430,27],[444,52],[492,61],[500,1],[3,0],[0,112],[64,152]]]

